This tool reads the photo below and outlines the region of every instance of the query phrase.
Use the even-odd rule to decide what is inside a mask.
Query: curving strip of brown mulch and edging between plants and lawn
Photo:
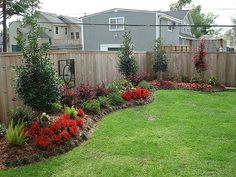
[[[72,141],[59,146],[57,145],[54,148],[50,148],[48,150],[39,149],[30,142],[27,142],[22,146],[12,146],[5,140],[4,137],[0,137],[0,169],[7,169],[9,167],[42,161],[50,156],[55,156],[72,150],[74,147],[80,145],[89,138],[89,136],[93,133],[96,124],[105,115],[116,110],[145,105],[152,102],[153,100],[153,94],[150,94],[146,100],[133,100],[125,102],[119,106],[112,106],[107,109],[103,109],[99,115],[89,115],[90,118],[87,119],[85,127],[77,139],[73,139]]]

